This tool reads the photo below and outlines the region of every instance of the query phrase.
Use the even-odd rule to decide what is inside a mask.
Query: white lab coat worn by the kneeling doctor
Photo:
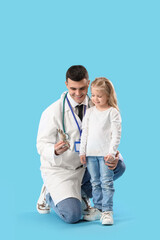
[[[65,101],[64,124],[66,133],[70,136],[71,150],[59,156],[54,154],[54,144],[60,140],[57,129],[63,130],[64,95],[65,93],[42,113],[37,136],[41,174],[54,204],[69,197],[78,198],[81,201],[81,182],[85,171],[79,154],[74,150],[74,142],[80,139],[80,135],[67,101]],[[91,104],[89,99],[88,101]],[[81,120],[78,116],[76,118],[81,128]]]

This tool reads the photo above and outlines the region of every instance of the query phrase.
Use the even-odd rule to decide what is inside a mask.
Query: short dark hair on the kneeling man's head
[[[71,66],[66,72],[66,81],[70,78],[72,81],[79,82],[82,79],[89,79],[87,69],[82,65]]]

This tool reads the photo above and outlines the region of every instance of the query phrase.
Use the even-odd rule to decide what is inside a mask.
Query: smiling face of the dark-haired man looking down
[[[69,94],[74,99],[74,101],[79,104],[83,102],[87,95],[89,83],[90,81],[85,78],[79,82],[73,81],[68,78],[68,81],[65,82]]]

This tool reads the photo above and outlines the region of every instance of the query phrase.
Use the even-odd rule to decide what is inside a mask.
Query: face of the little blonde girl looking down
[[[108,97],[105,91],[103,90],[98,90],[98,88],[91,88],[91,99],[92,102],[95,104],[95,106],[100,109],[106,109],[108,108]]]

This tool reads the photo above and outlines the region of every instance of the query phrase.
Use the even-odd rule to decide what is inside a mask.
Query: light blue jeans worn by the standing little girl
[[[105,165],[104,157],[87,157],[87,168],[91,175],[94,207],[103,212],[112,211],[114,172]]]

